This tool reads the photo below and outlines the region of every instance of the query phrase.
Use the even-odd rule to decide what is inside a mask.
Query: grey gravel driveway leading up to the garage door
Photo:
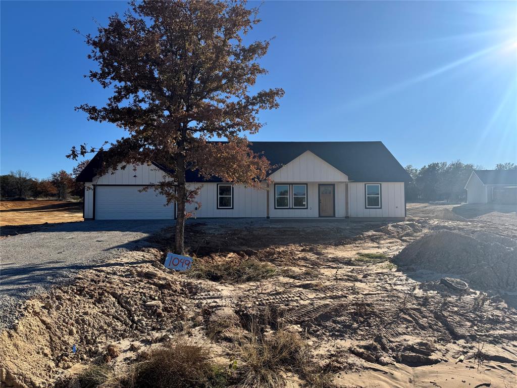
[[[173,220],[85,221],[43,227],[0,240],[0,329],[26,299],[71,274],[146,246],[147,236],[174,225]]]

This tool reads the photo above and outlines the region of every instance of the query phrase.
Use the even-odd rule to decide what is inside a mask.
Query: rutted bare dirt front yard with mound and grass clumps
[[[191,221],[185,273],[162,265],[165,228],[28,300],[2,384],[517,387],[515,215],[435,210]]]

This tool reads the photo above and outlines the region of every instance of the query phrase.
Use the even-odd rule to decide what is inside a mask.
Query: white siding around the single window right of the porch
[[[381,184],[381,208],[366,208],[364,185]],[[348,184],[349,217],[405,217],[403,182],[351,182]]]

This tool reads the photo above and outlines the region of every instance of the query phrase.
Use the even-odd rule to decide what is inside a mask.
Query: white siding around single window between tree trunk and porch
[[[266,217],[267,190],[254,189],[245,185],[233,185],[233,209],[217,208],[217,183],[188,183],[192,189],[201,186],[196,201],[201,202],[201,207],[196,203],[187,204],[187,212],[192,212],[194,217],[240,218],[240,217]]]

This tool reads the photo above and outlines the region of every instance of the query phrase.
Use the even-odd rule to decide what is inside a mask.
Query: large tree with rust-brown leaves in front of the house
[[[269,47],[244,40],[258,22],[257,9],[244,1],[143,1],[86,36],[88,57],[98,63],[88,77],[113,95],[103,107],[77,109],[128,132],[109,144],[100,173],[151,161],[172,169],[174,182],[163,179],[155,189],[177,202],[176,253],[184,249],[186,203],[199,192],[186,185],[188,170],[260,187],[270,168],[244,136],[262,127],[258,112],[277,108],[284,94],[252,90],[266,73],[257,59]],[[213,138],[227,142],[208,142]],[[95,151],[83,144],[68,156]]]

